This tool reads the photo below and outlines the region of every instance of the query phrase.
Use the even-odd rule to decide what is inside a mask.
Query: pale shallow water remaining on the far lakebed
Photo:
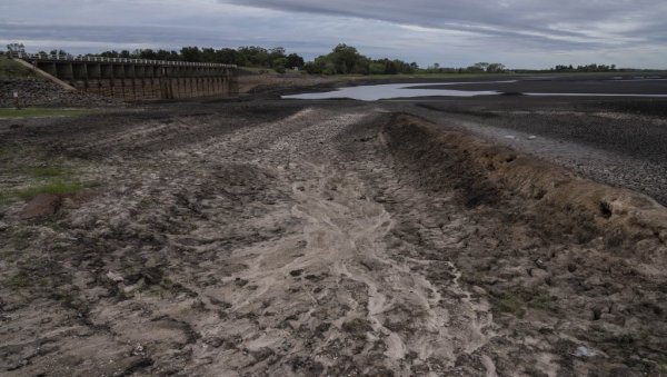
[[[514,83],[515,81],[486,81],[486,82],[434,82],[434,83],[389,83],[375,86],[359,86],[339,88],[327,92],[300,93],[282,96],[283,99],[356,99],[360,101],[377,101],[392,98],[411,97],[476,97],[498,96],[498,90],[451,90],[451,89],[425,89],[428,86],[461,86],[479,83]],[[549,93],[549,92],[522,92],[524,96],[554,96],[554,97],[646,97],[667,98],[667,95],[641,95],[641,93]]]

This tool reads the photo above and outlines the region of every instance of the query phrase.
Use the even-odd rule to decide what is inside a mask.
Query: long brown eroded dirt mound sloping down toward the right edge
[[[667,266],[667,209],[647,196],[414,116],[396,116],[386,132],[394,151],[417,165],[420,185],[459,189],[468,207],[517,195],[527,199],[526,216],[545,228],[565,229],[580,242],[603,237],[609,250]]]

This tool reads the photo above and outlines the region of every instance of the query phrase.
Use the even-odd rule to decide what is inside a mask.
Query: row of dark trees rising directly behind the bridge
[[[287,69],[301,69],[303,58],[297,53],[287,53],[282,47],[265,49],[262,47],[249,46],[238,49],[183,47],[175,50],[142,49],[135,51],[104,51],[98,56],[107,58],[151,59],[170,61],[213,62],[225,65],[237,65],[239,67],[271,68],[278,72]]]

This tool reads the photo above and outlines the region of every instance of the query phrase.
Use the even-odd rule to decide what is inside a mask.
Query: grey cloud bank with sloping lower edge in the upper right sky
[[[664,0],[221,0],[283,11],[339,14],[487,37],[542,42],[552,48],[614,46],[665,41],[667,2]],[[619,29],[615,30],[615,27]],[[624,30],[629,28],[629,30]],[[657,29],[656,34],[641,30]],[[568,44],[564,43],[567,42]],[[637,41],[633,41],[637,42]]]

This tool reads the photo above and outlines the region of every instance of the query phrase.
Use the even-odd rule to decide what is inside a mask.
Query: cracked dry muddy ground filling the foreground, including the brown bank
[[[646,197],[377,103],[14,123],[3,375],[667,373]]]

